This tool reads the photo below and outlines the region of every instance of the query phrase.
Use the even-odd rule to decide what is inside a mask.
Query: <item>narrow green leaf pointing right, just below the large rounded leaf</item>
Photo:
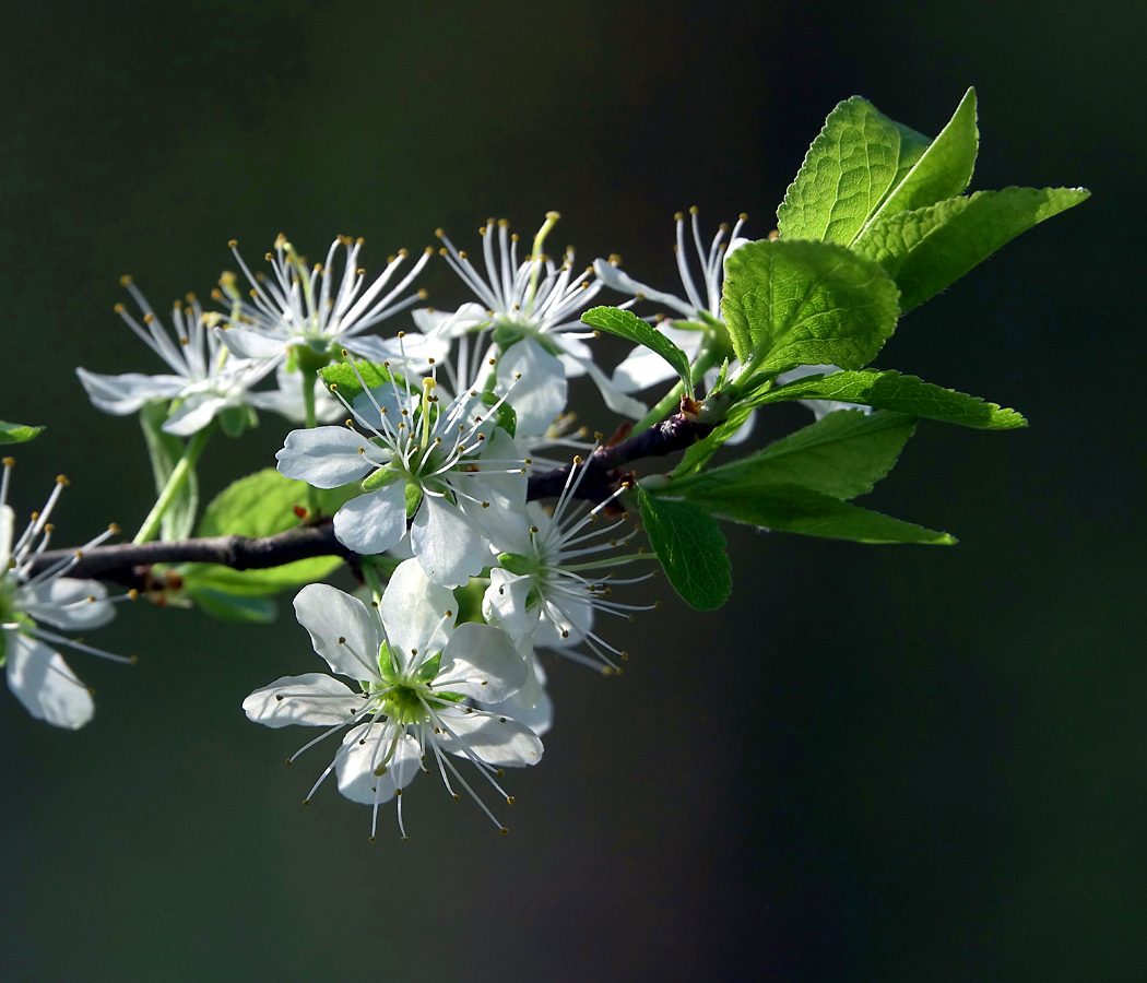
[[[896,409],[912,416],[975,427],[980,430],[1011,430],[1027,427],[1028,421],[1014,409],[1001,409],[976,396],[942,389],[914,375],[898,372],[836,372],[810,375],[787,385],[770,389],[754,398],[756,405],[786,399],[835,399],[859,403],[879,409]]]

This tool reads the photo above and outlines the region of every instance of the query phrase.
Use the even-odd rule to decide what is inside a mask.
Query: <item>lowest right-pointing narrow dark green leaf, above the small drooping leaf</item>
[[[720,518],[780,532],[876,544],[951,546],[955,543],[946,532],[868,512],[799,485],[763,485],[752,494],[732,484],[717,485],[690,493],[689,501]],[[657,505],[662,507],[668,502],[661,500]]]

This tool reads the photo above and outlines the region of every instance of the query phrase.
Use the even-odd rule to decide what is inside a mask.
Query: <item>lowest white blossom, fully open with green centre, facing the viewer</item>
[[[514,799],[498,781],[502,769],[541,759],[541,742],[529,727],[468,705],[508,700],[526,682],[529,666],[500,629],[455,625],[454,608],[453,594],[430,583],[413,560],[395,570],[374,611],[335,587],[311,584],[295,599],[299,624],[336,676],[353,680],[358,692],[334,677],[307,673],[279,679],[243,701],[247,716],[266,726],[325,728],[290,760],[349,728],[305,801],[334,771],[344,796],[373,806],[372,840],[379,806],[391,798],[406,838],[403,790],[419,771],[431,769],[455,799],[457,783],[505,833],[452,757],[469,759],[507,803]]]

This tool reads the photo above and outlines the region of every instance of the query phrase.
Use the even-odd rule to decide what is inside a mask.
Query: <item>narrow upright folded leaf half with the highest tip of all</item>
[[[924,208],[960,194],[972,180],[976,166],[980,131],[976,128],[976,91],[969,88],[939,135],[924,150],[884,203],[857,236],[863,241],[867,228],[896,212]]]

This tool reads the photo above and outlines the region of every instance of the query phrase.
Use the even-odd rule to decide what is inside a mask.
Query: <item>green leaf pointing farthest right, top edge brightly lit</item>
[[[976,192],[881,219],[857,243],[857,251],[896,280],[900,310],[910,311],[1020,233],[1090,195],[1084,188]]]

